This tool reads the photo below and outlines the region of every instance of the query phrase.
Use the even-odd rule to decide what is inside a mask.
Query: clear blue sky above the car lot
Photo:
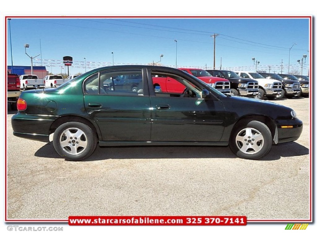
[[[216,68],[257,69],[280,72],[301,70],[297,60],[307,55],[303,74],[308,73],[308,18],[12,18],[14,65],[30,65],[30,56],[40,54],[47,70],[60,73],[63,56],[73,56],[70,74],[114,64],[158,62],[175,67],[213,67],[213,37],[216,37]],[[23,36],[23,37],[21,37]],[[8,34],[8,65],[11,65]],[[40,49],[41,39],[41,49]],[[113,52],[113,55],[112,53]],[[113,56],[113,58],[112,58]],[[305,62],[305,61],[304,61]],[[41,56],[34,60],[41,65]],[[52,65],[52,67],[50,67]],[[64,73],[64,69],[62,70]]]

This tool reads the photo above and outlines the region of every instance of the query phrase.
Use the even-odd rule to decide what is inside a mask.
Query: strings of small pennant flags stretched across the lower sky
[[[64,67],[63,60],[60,59],[34,59],[34,66],[46,66],[46,67]],[[152,65],[152,63],[118,63],[115,62],[115,65]],[[73,61],[72,68],[86,68],[86,69],[96,69],[104,66],[112,66],[112,62],[95,62],[95,61]],[[167,66],[174,68],[175,65],[165,65],[165,64],[156,64],[160,66]],[[180,66],[179,68],[198,68],[198,69],[212,69],[211,66],[199,66],[199,65],[190,65],[190,66]],[[301,64],[290,64],[289,69],[292,70],[301,70]],[[219,67],[217,67],[219,69]],[[236,66],[236,67],[222,67],[222,69],[228,69],[232,71],[255,71],[255,65],[248,65],[248,66]],[[257,71],[271,71],[271,72],[280,72],[281,71],[281,65],[275,64],[275,65],[257,65],[256,67]],[[288,71],[288,64],[283,65],[283,71]],[[309,69],[309,65],[303,64],[303,70]]]

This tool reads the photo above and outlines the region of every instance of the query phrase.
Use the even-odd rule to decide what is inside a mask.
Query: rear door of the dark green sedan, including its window
[[[102,141],[149,141],[151,107],[143,81],[132,91],[125,85],[109,88],[119,76],[143,74],[143,69],[120,68],[105,70],[88,77],[84,84],[84,103],[87,113],[98,124]],[[147,76],[143,80],[147,80]],[[128,83],[128,82],[127,82]],[[114,85],[114,84],[113,84]]]

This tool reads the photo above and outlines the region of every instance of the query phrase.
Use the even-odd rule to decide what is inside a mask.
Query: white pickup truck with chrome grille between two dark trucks
[[[278,80],[265,78],[255,72],[239,71],[236,74],[242,78],[250,78],[258,81],[259,93],[254,96],[257,99],[263,99],[266,96],[268,99],[274,100],[282,92],[282,83]]]

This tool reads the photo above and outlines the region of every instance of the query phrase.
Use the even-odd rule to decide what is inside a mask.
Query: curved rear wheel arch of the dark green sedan
[[[99,127],[95,125],[93,122],[88,120],[87,118],[81,117],[81,116],[74,116],[74,115],[66,115],[66,116],[61,116],[58,119],[56,119],[50,129],[49,129],[49,134],[53,133],[61,124],[66,123],[66,122],[81,122],[86,125],[88,125],[91,129],[94,130],[94,132],[97,135],[97,140],[99,141],[100,138],[102,138]]]

